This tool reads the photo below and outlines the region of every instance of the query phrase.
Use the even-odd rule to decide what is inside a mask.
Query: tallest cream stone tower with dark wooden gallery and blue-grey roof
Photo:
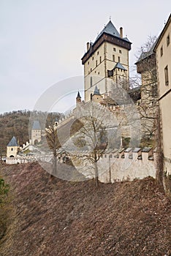
[[[100,94],[110,91],[107,78],[112,78],[115,83],[129,80],[129,50],[131,42],[115,29],[111,20],[104,26],[94,43],[87,43],[84,54],[85,101],[92,99],[95,86]]]

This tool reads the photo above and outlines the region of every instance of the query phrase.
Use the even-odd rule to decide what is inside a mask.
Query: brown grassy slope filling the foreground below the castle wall
[[[153,178],[96,189],[50,179],[37,163],[0,170],[13,196],[1,256],[171,254],[171,204]]]

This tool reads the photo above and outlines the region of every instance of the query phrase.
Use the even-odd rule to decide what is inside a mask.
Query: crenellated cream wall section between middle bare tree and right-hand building
[[[151,148],[127,148],[103,155],[99,160],[99,181],[113,183],[148,176],[156,178],[156,157],[157,153]]]

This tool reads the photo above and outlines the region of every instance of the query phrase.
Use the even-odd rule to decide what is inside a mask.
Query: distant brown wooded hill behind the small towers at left
[[[64,116],[61,113],[47,114],[40,111],[31,112],[29,110],[18,110],[0,114],[0,156],[6,154],[7,143],[9,143],[12,136],[19,140],[20,146],[28,141],[28,124],[31,115],[39,119],[40,124],[47,115],[47,126],[52,125],[55,118]]]

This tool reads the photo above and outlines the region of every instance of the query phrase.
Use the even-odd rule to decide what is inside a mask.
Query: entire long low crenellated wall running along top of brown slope
[[[86,152],[83,154],[61,154],[58,162],[64,162],[64,156],[72,159],[77,170],[86,178],[94,178],[94,166],[88,162]],[[151,176],[156,178],[157,151],[152,148],[122,148],[108,151],[102,155],[98,164],[99,181],[114,183],[115,181],[132,181],[134,178]],[[8,157],[8,165],[28,162],[52,162],[52,155],[39,155],[37,157]],[[86,160],[86,161],[85,161]]]

